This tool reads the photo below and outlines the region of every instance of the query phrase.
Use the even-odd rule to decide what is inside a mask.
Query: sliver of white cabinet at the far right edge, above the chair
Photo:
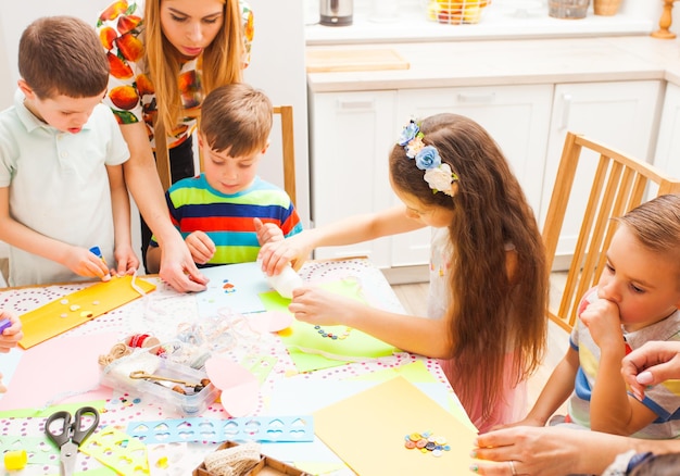
[[[664,109],[658,126],[656,154],[654,165],[680,177],[680,87],[673,84],[666,86]]]

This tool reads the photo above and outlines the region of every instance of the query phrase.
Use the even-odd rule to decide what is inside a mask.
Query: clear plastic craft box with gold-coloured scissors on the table
[[[134,372],[146,372],[158,377],[196,384],[207,378],[204,371],[172,362],[150,352],[138,351],[106,365],[102,371],[101,384],[133,396],[153,399],[154,402],[175,410],[181,416],[200,415],[219,394],[219,390],[212,383],[199,391],[182,394],[173,389],[178,385],[176,383],[131,378],[130,374]]]

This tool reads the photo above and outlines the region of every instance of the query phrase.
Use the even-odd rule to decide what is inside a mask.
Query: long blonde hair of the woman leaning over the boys
[[[162,1],[147,0],[144,5],[144,61],[155,88],[158,121],[169,134],[182,117],[178,86],[182,57],[163,34]],[[217,86],[240,83],[243,77],[243,24],[239,1],[221,1],[224,3],[222,28],[199,59],[204,96]]]

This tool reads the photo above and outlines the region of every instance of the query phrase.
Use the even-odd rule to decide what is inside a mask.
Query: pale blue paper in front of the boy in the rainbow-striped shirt
[[[201,273],[210,283],[203,292],[196,295],[199,315],[215,315],[224,309],[241,314],[265,311],[259,295],[272,287],[257,263],[204,267]]]

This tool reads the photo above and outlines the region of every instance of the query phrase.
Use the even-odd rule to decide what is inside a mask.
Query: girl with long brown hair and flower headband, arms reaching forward
[[[289,309],[300,321],[347,325],[441,359],[480,431],[515,421],[526,412],[526,379],[542,359],[549,291],[541,235],[519,183],[489,134],[455,114],[404,128],[390,154],[390,181],[403,206],[269,243],[261,251],[264,270],[298,267],[320,246],[436,228],[427,317],[312,287],[295,290]]]

